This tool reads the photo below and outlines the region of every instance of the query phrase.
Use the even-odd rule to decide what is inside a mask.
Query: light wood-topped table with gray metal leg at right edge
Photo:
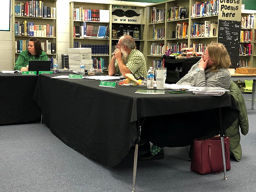
[[[231,75],[231,79],[233,81],[244,81],[246,80],[253,80],[252,82],[252,109],[254,109],[254,104],[255,104],[255,93],[256,93],[256,74],[240,74],[240,73],[235,73]]]

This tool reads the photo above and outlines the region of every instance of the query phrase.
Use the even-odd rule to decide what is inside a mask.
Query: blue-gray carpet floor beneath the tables
[[[245,99],[252,96],[243,95]],[[250,130],[241,135],[242,160],[231,160],[228,180],[223,180],[223,173],[190,171],[189,146],[164,148],[164,159],[138,161],[136,191],[256,191],[256,109],[251,109],[251,101],[245,103]],[[69,148],[39,123],[0,126],[0,146],[0,192],[132,191],[132,153],[108,168]]]

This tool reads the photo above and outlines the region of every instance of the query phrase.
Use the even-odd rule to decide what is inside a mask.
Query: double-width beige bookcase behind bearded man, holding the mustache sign
[[[145,6],[138,6],[138,5],[131,5],[131,4],[118,4],[119,1],[116,1],[117,4],[104,4],[104,3],[91,3],[91,2],[70,2],[70,47],[76,48],[76,47],[90,47],[92,46],[92,58],[95,58],[95,62],[100,59],[104,59],[104,61],[108,64],[112,57],[112,52],[115,50],[116,43],[118,43],[119,37],[124,34],[129,34],[131,36],[136,35],[138,39],[135,39],[136,48],[140,50],[145,55],[145,36],[146,36],[146,12],[145,12]],[[121,3],[121,1],[120,1]],[[80,9],[79,9],[80,8]],[[130,10],[136,10],[136,14],[139,16],[134,19],[120,17],[118,18],[118,14],[120,13],[120,9],[127,9]],[[87,20],[84,18],[77,18],[77,14],[75,13],[74,9],[80,10],[100,10],[100,20],[99,21],[93,21],[93,20]],[[116,10],[118,9],[118,10]],[[115,11],[116,10],[116,11]],[[138,11],[137,11],[138,10]],[[88,12],[88,11],[87,11]],[[124,14],[125,11],[124,11]],[[128,13],[127,13],[128,14]],[[79,28],[81,25],[84,25],[86,22],[86,26],[104,26],[103,28],[107,27],[107,32],[104,37],[99,38],[98,32],[96,32],[97,35],[92,36],[82,36],[84,34],[80,34],[76,36],[76,31],[82,30],[74,30],[75,28]],[[76,27],[77,26],[77,27]],[[96,30],[97,31],[97,30]],[[135,31],[135,33],[134,33]],[[86,33],[88,32],[88,28],[86,29]],[[75,35],[75,36],[74,36]],[[136,38],[135,37],[135,38]],[[93,47],[94,45],[94,47]],[[98,65],[94,66],[95,68],[98,67]],[[104,69],[107,71],[107,69]]]

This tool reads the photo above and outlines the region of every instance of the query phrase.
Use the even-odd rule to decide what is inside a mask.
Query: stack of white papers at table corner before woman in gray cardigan
[[[193,91],[195,95],[213,95],[213,96],[221,96],[225,92],[229,92],[229,90],[224,89],[222,87],[197,87],[196,91]]]

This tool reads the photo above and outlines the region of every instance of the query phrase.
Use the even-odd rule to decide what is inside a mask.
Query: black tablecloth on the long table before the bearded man
[[[170,94],[167,90],[164,95],[136,94],[137,89],[147,88],[99,87],[100,81],[96,80],[51,76],[39,76],[34,94],[34,100],[42,109],[44,123],[68,146],[109,167],[118,164],[128,154],[137,138],[135,122],[138,118],[195,113],[218,107],[225,109],[225,114],[227,111],[235,114],[230,121],[237,117],[237,110],[230,108],[236,108],[235,100],[228,94],[197,96],[192,92]],[[223,122],[227,121],[225,114]],[[228,124],[224,124],[224,129]]]

